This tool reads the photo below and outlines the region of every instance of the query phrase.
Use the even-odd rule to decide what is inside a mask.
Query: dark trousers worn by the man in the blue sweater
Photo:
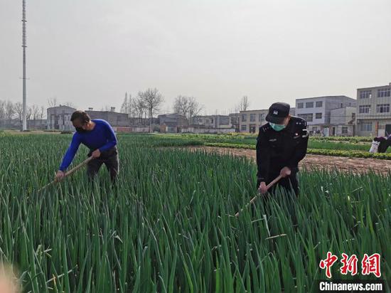
[[[91,156],[92,151],[88,154]],[[117,146],[113,146],[107,151],[102,151],[99,158],[95,158],[88,162],[87,164],[87,176],[88,180],[92,181],[95,178],[95,175],[98,173],[100,166],[105,164],[107,171],[109,171],[110,179],[112,183],[115,182],[119,172],[119,159],[118,159],[118,150]]]

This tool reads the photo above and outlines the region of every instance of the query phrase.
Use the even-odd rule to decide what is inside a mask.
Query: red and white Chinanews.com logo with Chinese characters
[[[378,279],[382,276],[380,271],[380,254],[364,254],[359,260],[357,255],[341,254],[341,266],[339,273],[341,275],[368,276],[373,275],[377,280],[336,280],[336,276],[331,274],[331,267],[338,262],[337,255],[327,252],[327,257],[319,262],[321,270],[325,271],[326,279],[318,281],[319,292],[384,292],[385,282]]]

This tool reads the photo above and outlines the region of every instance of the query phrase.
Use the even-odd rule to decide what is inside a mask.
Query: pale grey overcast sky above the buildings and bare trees
[[[157,87],[208,114],[391,82],[390,0],[26,0],[28,104]],[[21,0],[0,0],[0,100],[22,100]]]

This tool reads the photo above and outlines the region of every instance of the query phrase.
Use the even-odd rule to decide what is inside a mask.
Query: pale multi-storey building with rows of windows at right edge
[[[357,135],[391,134],[391,82],[389,85],[357,90]]]

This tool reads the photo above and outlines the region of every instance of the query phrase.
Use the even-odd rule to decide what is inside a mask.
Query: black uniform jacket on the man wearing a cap
[[[306,156],[309,140],[307,122],[292,116],[282,131],[276,132],[269,123],[259,127],[257,137],[258,181],[269,181],[269,176],[279,174],[284,166],[292,173]]]

